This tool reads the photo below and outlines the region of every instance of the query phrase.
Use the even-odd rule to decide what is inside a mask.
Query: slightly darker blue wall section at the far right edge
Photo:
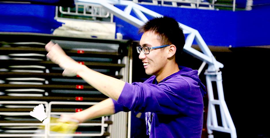
[[[251,11],[236,12],[237,47],[270,45],[270,6],[260,6]]]

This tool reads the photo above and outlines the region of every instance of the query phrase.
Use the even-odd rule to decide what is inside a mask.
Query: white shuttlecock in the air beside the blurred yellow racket
[[[34,118],[40,120],[43,124],[47,124],[49,122],[49,119],[45,114],[43,104],[39,104],[38,106],[36,106],[34,110],[31,111],[29,114],[30,116],[33,116]]]

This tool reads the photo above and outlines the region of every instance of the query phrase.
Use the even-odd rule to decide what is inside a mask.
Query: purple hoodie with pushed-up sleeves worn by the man
[[[150,138],[200,138],[205,86],[197,70],[184,66],[179,69],[159,83],[155,76],[144,83],[126,83],[119,99],[113,100],[115,113],[151,112],[146,113],[151,115],[146,116]]]

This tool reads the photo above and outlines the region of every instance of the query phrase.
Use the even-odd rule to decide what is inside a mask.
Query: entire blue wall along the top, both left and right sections
[[[215,11],[142,5],[200,32],[207,45],[244,47],[270,45],[270,5],[257,5],[251,11]],[[125,6],[116,5],[124,10]],[[131,13],[133,16],[135,14]],[[51,34],[61,23],[54,20],[55,6],[0,4],[1,32],[38,32]],[[149,17],[149,19],[151,19]],[[138,28],[114,17],[116,32],[124,39],[139,40]]]

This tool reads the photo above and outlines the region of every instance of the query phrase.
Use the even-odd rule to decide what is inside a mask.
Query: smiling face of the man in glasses
[[[161,46],[159,35],[152,31],[147,31],[142,34],[140,40],[141,47],[158,47]],[[143,62],[145,73],[148,75],[159,75],[163,71],[167,58],[165,57],[165,48],[150,49],[149,54],[144,54],[141,51],[139,58]]]

